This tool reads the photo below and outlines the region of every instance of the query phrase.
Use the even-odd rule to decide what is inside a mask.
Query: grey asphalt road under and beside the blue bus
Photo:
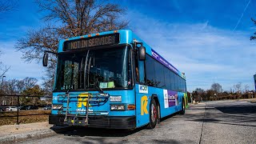
[[[162,119],[154,130],[80,128],[22,143],[256,143],[256,103],[205,102]]]

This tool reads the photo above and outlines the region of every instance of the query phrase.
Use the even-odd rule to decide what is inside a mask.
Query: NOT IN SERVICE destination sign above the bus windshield
[[[119,34],[99,35],[64,42],[63,50],[78,50],[96,46],[108,46],[119,43]]]

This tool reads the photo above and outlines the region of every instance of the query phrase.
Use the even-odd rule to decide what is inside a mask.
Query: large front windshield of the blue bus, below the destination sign
[[[127,46],[58,54],[54,90],[130,88]]]

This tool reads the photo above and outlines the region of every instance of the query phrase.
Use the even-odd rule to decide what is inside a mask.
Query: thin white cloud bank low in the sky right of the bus
[[[232,32],[210,23],[166,23],[130,12],[133,30],[178,70],[186,73],[187,88],[210,89],[219,82],[224,90],[238,82],[254,90],[256,42],[250,33]]]

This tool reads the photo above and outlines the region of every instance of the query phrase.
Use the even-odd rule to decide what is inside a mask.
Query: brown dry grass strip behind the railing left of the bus
[[[19,123],[46,122],[50,110],[22,110],[19,111]],[[0,112],[0,126],[14,125],[17,122],[17,111]]]

